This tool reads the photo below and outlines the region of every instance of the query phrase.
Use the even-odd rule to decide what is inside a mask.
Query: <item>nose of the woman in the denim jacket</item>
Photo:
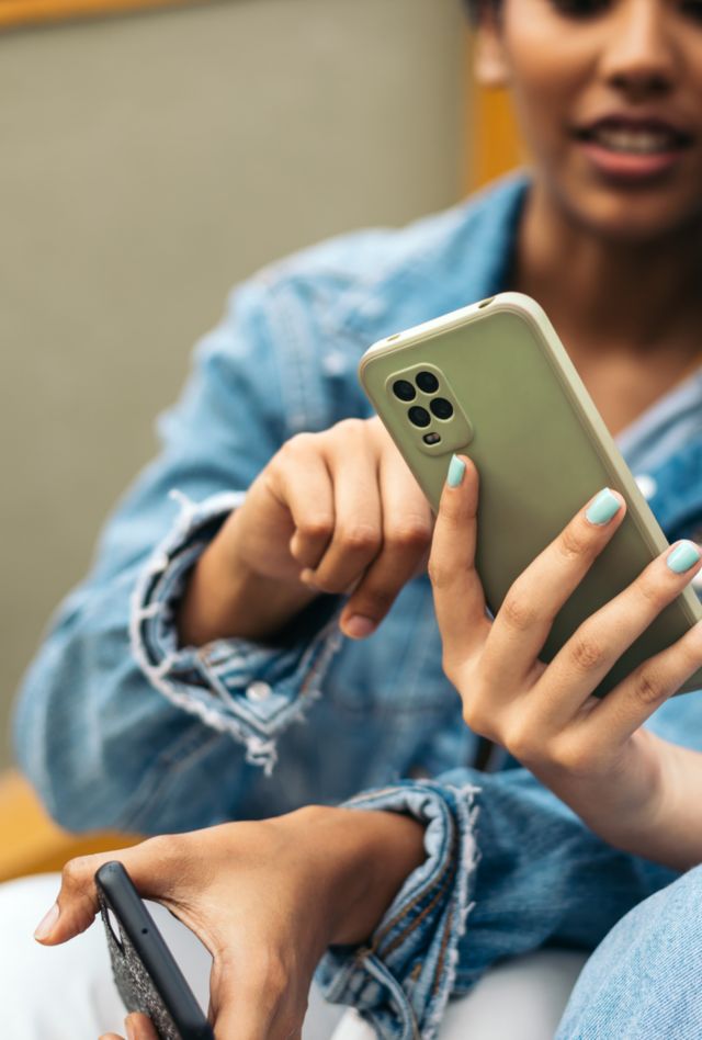
[[[667,93],[679,64],[666,0],[620,0],[602,72],[630,100]]]

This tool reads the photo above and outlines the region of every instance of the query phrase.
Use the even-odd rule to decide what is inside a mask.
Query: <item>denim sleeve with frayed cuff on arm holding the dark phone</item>
[[[676,874],[601,841],[524,769],[460,769],[346,803],[407,813],[427,858],[364,947],[332,947],[328,1001],[359,1009],[383,1040],[434,1040],[448,999],[497,961],[546,945],[593,949]]]

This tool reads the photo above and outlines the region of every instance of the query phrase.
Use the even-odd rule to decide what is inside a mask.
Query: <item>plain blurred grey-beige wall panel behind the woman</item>
[[[453,202],[458,0],[230,0],[0,37],[0,736],[228,287]]]

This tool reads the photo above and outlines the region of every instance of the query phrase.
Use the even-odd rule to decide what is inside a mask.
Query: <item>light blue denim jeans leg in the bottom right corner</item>
[[[587,962],[556,1040],[702,1037],[702,867],[641,903]]]

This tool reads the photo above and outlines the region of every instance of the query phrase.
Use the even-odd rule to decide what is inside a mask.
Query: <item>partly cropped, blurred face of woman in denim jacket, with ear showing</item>
[[[702,215],[702,0],[502,0],[477,69],[571,217],[642,241]]]

